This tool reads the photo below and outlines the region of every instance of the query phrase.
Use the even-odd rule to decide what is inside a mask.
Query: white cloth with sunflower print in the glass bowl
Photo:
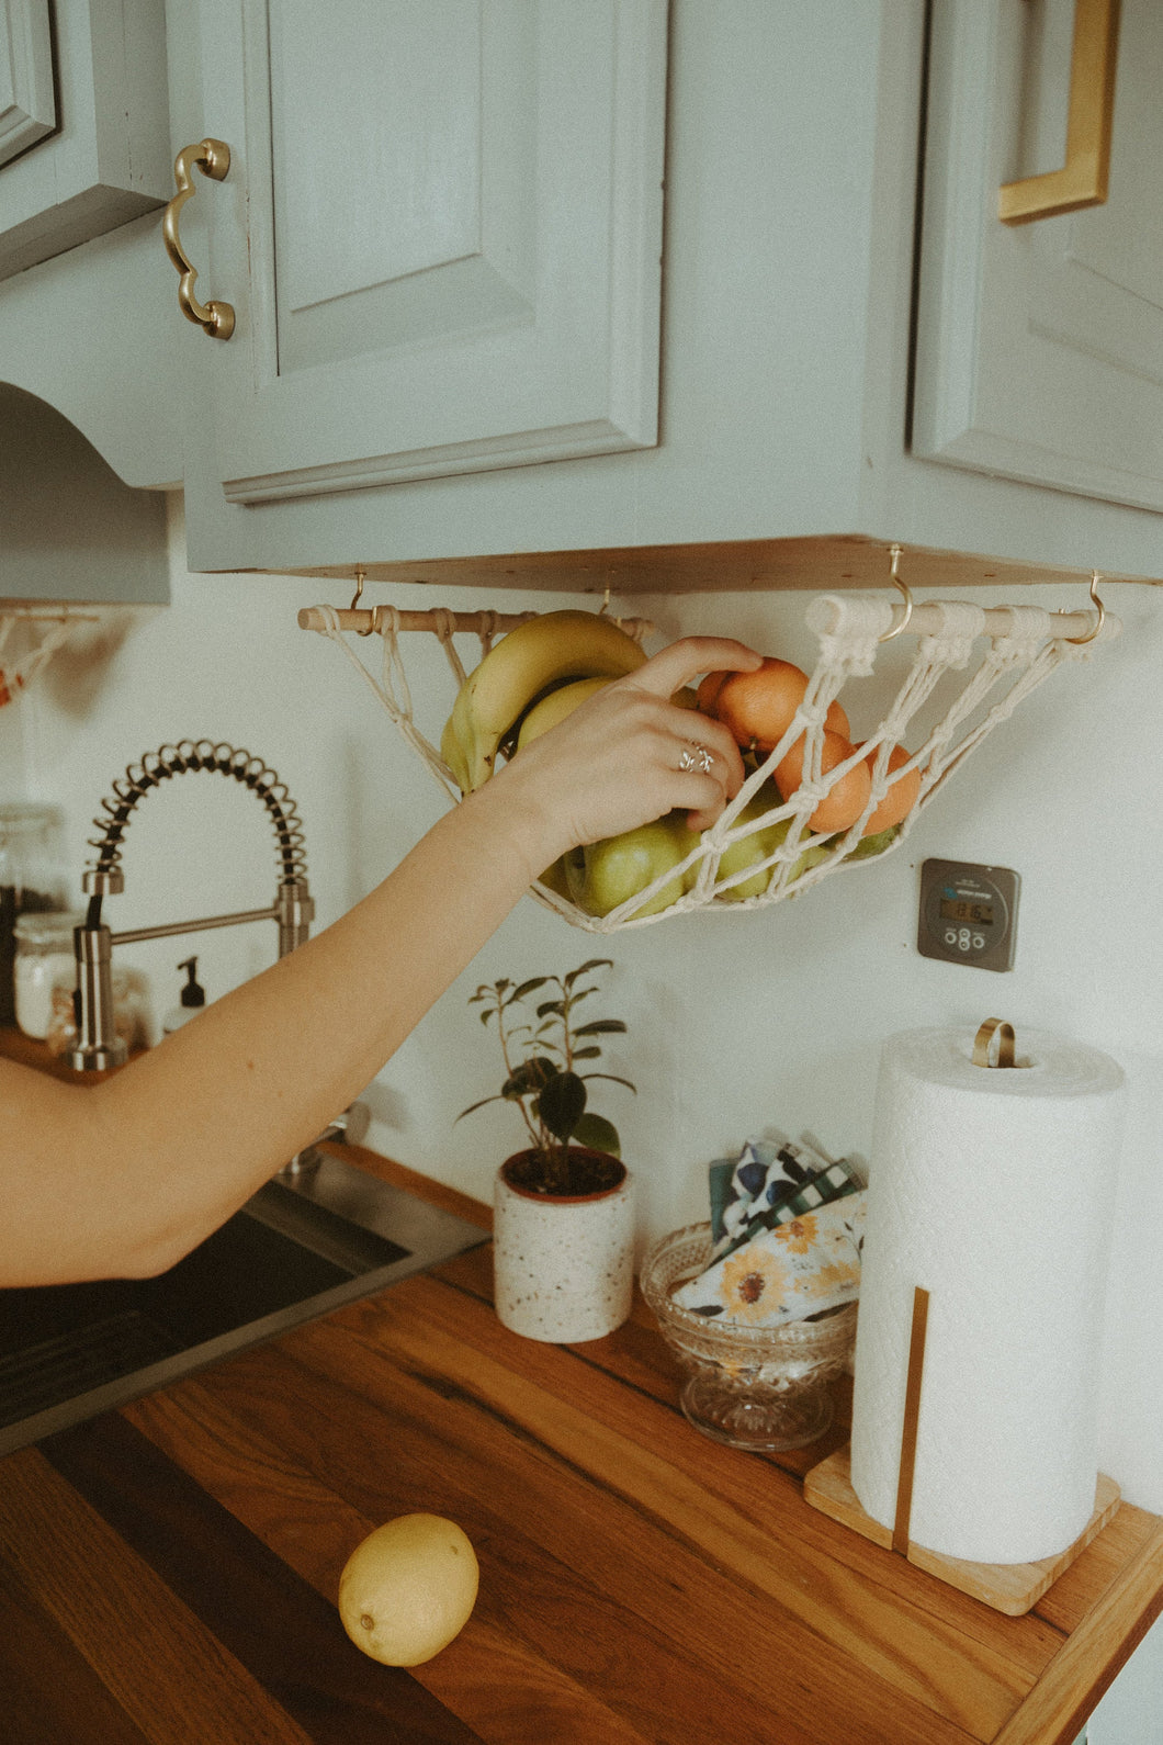
[[[778,1326],[853,1302],[860,1297],[867,1197],[867,1188],[860,1188],[762,1230],[680,1286],[675,1302],[743,1326]]]

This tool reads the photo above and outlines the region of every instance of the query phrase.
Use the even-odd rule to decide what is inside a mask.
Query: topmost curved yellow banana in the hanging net
[[[544,612],[518,625],[464,681],[445,728],[441,752],[460,790],[488,780],[500,740],[546,686],[621,679],[643,663],[635,639],[596,612]]]

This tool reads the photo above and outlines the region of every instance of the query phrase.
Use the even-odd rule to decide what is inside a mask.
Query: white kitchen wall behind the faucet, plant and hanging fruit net
[[[35,691],[0,710],[0,797],[28,794],[65,808],[78,878],[89,820],[127,763],[181,736],[246,745],[298,801],[324,925],[396,864],[445,801],[340,651],[296,626],[300,606],[347,604],[350,590],[187,576],[176,499],[173,508],[173,606],[126,614],[87,649],[59,654]],[[654,1234],[704,1216],[704,1164],[758,1127],[792,1136],[809,1129],[832,1152],[863,1155],[879,1044],[898,1028],[1004,1016],[1018,1028],[1060,1030],[1107,1049],[1132,1080],[1132,1124],[1118,1192],[1112,1185],[1104,1466],[1132,1501],[1163,1509],[1163,593],[1132,585],[1105,593],[1125,621],[1123,639],[1037,691],[886,862],[800,900],[661,921],[614,942],[521,902],[368,1099],[380,1150],[486,1199],[520,1127],[506,1108],[455,1124],[460,1108],[497,1085],[493,1044],[467,995],[483,979],[565,972],[609,955],[616,968],[607,1010],[628,1019],[629,1035],[614,1038],[607,1057],[638,1084],[638,1096],[609,1087],[600,1106],[621,1127],[642,1185],[643,1232]],[[387,599],[384,588],[370,595]],[[485,600],[469,590],[436,599],[418,585],[391,597],[467,609],[530,604],[528,595]],[[1046,590],[1024,597],[1085,604]],[[804,661],[806,599],[616,604],[654,618],[659,644],[713,630]],[[534,604],[549,602],[541,595]],[[371,642],[361,653],[371,658]],[[901,660],[901,646],[886,654]],[[434,639],[410,642],[408,660],[422,726],[438,738],[452,677]],[[870,695],[854,700],[856,731],[875,719],[872,693],[882,689],[861,684]],[[917,955],[917,867],[926,855],[1022,874],[1011,974]],[[126,895],[108,904],[115,928],[274,897],[274,838],[262,808],[214,777],[150,794],[131,824],[124,867]],[[173,1002],[174,965],[190,951],[214,996],[270,960],[274,925],[126,948],[148,977],[157,1012]]]

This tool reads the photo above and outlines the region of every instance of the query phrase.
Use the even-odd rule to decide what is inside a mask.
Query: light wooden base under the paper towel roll
[[[811,1469],[804,1480],[804,1501],[811,1502],[821,1515],[840,1522],[842,1527],[851,1527],[853,1532],[872,1539],[874,1544],[891,1550],[893,1529],[882,1527],[881,1522],[865,1515],[853,1490],[847,1448],[839,1448]],[[1043,1597],[1046,1588],[1069,1569],[1079,1551],[1085,1551],[1090,1541],[1112,1520],[1119,1501],[1119,1487],[1112,1478],[1100,1473],[1095,1488],[1095,1513],[1079,1537],[1065,1551],[1060,1551],[1058,1557],[1043,1558],[1039,1564],[969,1564],[964,1558],[940,1557],[936,1551],[926,1551],[924,1546],[914,1544],[912,1539],[908,1541],[907,1557],[917,1569],[926,1569],[938,1581],[949,1583],[950,1588],[959,1588],[961,1593],[969,1593],[975,1600],[983,1600],[985,1605],[992,1605],[997,1612],[1006,1612],[1008,1618],[1022,1618]]]

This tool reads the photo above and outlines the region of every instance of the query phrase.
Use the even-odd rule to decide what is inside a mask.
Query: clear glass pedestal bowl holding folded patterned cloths
[[[830,1382],[851,1370],[856,1304],[781,1326],[708,1319],[682,1309],[671,1291],[710,1256],[710,1223],[692,1223],[656,1242],[642,1265],[642,1295],[687,1373],[685,1417],[732,1448],[778,1452],[816,1441],[833,1417]]]

